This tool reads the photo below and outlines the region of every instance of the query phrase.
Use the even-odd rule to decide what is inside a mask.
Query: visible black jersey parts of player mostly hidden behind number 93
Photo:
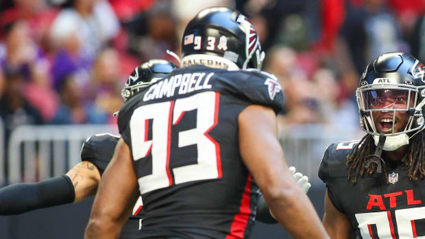
[[[90,136],[82,146],[81,160],[94,164],[102,175],[106,166],[112,160],[119,138],[119,136],[113,134],[95,134]],[[140,236],[139,229],[143,220],[142,209],[143,202],[141,197],[139,197],[136,205],[134,205],[132,216],[121,229],[120,239],[135,239]]]

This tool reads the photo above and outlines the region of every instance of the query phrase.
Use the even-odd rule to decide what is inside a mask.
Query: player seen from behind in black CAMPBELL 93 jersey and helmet
[[[264,53],[250,22],[203,10],[186,26],[182,56],[182,68],[121,108],[85,238],[116,238],[139,193],[141,238],[248,238],[258,186],[294,238],[328,238],[284,161],[283,94],[258,71]]]

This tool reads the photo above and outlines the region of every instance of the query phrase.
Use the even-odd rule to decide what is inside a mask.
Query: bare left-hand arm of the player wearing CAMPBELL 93
[[[130,149],[121,138],[97,191],[84,238],[118,238],[138,197]]]

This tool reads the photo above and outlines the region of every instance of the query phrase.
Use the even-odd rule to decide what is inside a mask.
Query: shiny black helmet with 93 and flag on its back
[[[241,69],[261,69],[265,58],[252,24],[229,8],[207,8],[188,23],[182,39],[182,57],[195,54],[225,58]]]

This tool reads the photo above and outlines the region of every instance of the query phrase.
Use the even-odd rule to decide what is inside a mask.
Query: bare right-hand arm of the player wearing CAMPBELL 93
[[[239,114],[239,148],[267,205],[289,234],[294,238],[328,238],[311,201],[288,170],[273,110],[250,105]]]

